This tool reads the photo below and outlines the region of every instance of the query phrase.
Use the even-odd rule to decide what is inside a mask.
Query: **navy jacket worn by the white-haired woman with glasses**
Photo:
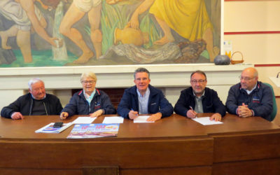
[[[111,100],[105,92],[97,90],[90,102],[90,106],[83,95],[83,90],[76,92],[71,97],[69,104],[66,104],[62,112],[69,113],[69,117],[73,115],[88,115],[99,109],[104,110],[104,114],[116,114],[116,109],[111,104]]]

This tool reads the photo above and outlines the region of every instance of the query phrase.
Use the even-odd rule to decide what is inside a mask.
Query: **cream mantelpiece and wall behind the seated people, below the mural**
[[[214,64],[153,64],[130,66],[76,66],[0,69],[0,109],[27,92],[29,79],[44,80],[48,92],[57,95],[65,106],[71,98],[71,89],[81,88],[80,74],[93,71],[97,74],[97,87],[130,87],[134,70],[144,66],[151,72],[151,85],[161,87],[173,105],[180,91],[190,86],[190,73],[198,69],[207,73],[208,87],[218,92],[225,102],[231,85],[239,82],[241,71],[252,64],[216,66]]]

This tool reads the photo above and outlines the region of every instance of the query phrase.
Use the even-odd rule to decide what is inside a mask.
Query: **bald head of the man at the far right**
[[[240,76],[241,87],[245,90],[252,90],[258,81],[258,71],[253,67],[244,69]]]

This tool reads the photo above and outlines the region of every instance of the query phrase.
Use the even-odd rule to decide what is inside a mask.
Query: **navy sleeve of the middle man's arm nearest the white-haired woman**
[[[120,104],[118,104],[118,115],[122,116],[123,118],[129,118],[128,113],[130,113],[130,94],[128,94],[127,90],[123,93],[123,97],[120,100]]]

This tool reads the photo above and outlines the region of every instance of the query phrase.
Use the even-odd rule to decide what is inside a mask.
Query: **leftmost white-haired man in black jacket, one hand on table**
[[[17,120],[23,119],[23,116],[59,115],[62,105],[55,95],[45,93],[43,80],[32,78],[28,86],[28,94],[22,95],[9,106],[3,107],[2,117]]]

